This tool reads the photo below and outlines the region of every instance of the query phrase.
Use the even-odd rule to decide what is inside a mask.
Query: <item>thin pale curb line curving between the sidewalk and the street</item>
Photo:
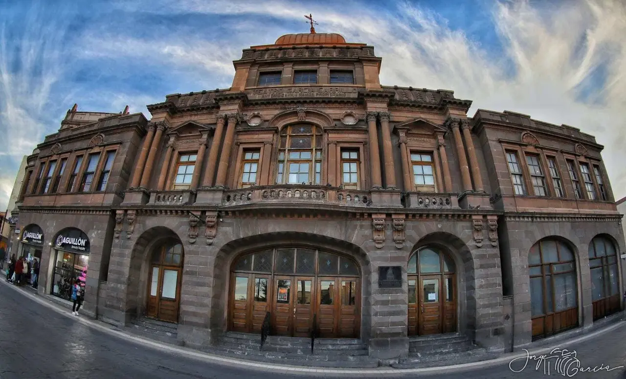
[[[20,289],[3,280],[0,280],[0,282],[10,288],[13,288],[15,291],[18,291],[19,293],[28,294],[26,289]],[[471,363],[461,363],[459,365],[424,367],[424,368],[365,368],[365,369],[343,368],[343,369],[339,369],[339,368],[313,368],[313,367],[307,367],[307,366],[289,366],[289,365],[279,365],[275,363],[257,363],[253,361],[240,360],[237,358],[226,358],[226,357],[219,356],[219,355],[213,355],[210,353],[204,353],[204,352],[200,352],[197,350],[192,350],[190,348],[167,345],[163,343],[158,343],[153,340],[148,340],[146,338],[133,336],[133,335],[124,333],[123,331],[113,329],[115,328],[115,326],[111,326],[111,328],[108,328],[106,326],[101,325],[99,322],[96,322],[91,319],[86,319],[83,317],[76,318],[76,316],[71,315],[68,310],[61,309],[61,306],[53,304],[51,301],[41,299],[39,296],[37,296],[37,294],[32,293],[31,295],[32,296],[27,296],[27,297],[33,299],[39,304],[42,304],[43,306],[46,306],[47,308],[53,309],[57,313],[62,314],[63,316],[66,316],[67,318],[75,319],[78,322],[85,324],[86,326],[90,326],[91,328],[98,329],[100,331],[103,331],[104,333],[108,333],[110,335],[122,338],[123,340],[126,340],[126,341],[130,340],[130,341],[133,341],[134,343],[137,343],[138,345],[150,346],[151,348],[155,350],[167,351],[169,353],[175,353],[177,355],[194,358],[195,360],[205,361],[209,363],[218,363],[218,364],[233,367],[233,368],[241,368],[241,366],[246,366],[247,368],[254,368],[257,370],[283,371],[284,373],[296,373],[296,374],[303,374],[303,375],[304,374],[310,375],[312,373],[320,374],[320,375],[321,374],[324,374],[324,375],[329,375],[329,374],[404,375],[404,374],[414,374],[414,373],[441,373],[441,372],[446,372],[446,371],[459,371],[459,370],[475,368],[479,366],[481,368],[486,368],[486,367],[498,365],[500,363],[505,363],[505,362],[508,363],[511,361],[512,358],[516,358],[520,356],[520,352],[506,353],[505,355],[495,358],[493,360],[478,361],[478,362],[471,362]],[[528,353],[530,355],[538,355],[541,352],[550,351],[554,348],[560,347],[565,343],[572,344],[572,343],[578,343],[580,341],[585,341],[597,335],[607,333],[608,331],[612,331],[613,329],[617,329],[625,324],[626,324],[626,321],[619,321],[615,324],[607,326],[606,328],[593,331],[592,333],[582,335],[578,338],[574,338],[573,340],[560,341],[559,345],[553,345],[553,346],[528,350]]]

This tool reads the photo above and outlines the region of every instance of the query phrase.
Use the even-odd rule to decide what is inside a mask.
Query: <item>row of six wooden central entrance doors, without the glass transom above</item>
[[[309,337],[314,327],[322,338],[359,335],[358,278],[232,275],[228,315],[232,331],[260,333],[269,312],[272,335]]]

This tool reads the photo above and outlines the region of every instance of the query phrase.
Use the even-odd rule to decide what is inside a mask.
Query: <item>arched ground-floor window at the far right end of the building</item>
[[[589,244],[593,319],[603,318],[620,310],[617,250],[605,237],[595,237]]]

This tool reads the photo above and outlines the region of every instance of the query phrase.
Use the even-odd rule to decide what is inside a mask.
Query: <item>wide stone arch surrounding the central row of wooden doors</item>
[[[213,283],[211,328],[213,330],[220,331],[228,330],[228,309],[230,309],[228,306],[230,301],[228,295],[233,291],[233,286],[236,284],[234,283],[235,279],[233,278],[237,277],[237,274],[223,274],[226,277],[222,278],[222,275],[220,274],[218,276],[217,273],[231,273],[230,268],[237,264],[235,259],[246,256],[246,254],[267,251],[268,249],[272,249],[273,251],[273,249],[289,247],[300,247],[302,249],[308,249],[310,251],[314,250],[318,252],[330,252],[331,254],[336,254],[337,256],[349,257],[356,263],[358,270],[360,271],[359,293],[361,295],[361,301],[359,301],[360,309],[358,309],[358,313],[360,314],[360,330],[356,334],[362,339],[368,338],[371,328],[371,288],[368,284],[371,276],[371,270],[367,254],[362,251],[360,247],[350,242],[306,232],[269,232],[257,234],[255,236],[244,237],[231,241],[220,249],[215,257],[213,266],[216,278]],[[233,271],[233,273],[236,271],[237,270]],[[297,277],[295,272],[293,275],[294,278]],[[317,278],[317,274],[315,278]],[[339,278],[339,276],[337,276],[337,278]],[[318,279],[321,279],[321,277]],[[311,284],[313,284],[313,281],[314,280],[311,279]],[[339,283],[341,285],[341,280]],[[317,284],[319,283],[316,282],[316,285]]]

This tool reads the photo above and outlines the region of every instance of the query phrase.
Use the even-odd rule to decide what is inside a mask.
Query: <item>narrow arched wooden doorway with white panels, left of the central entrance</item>
[[[182,283],[183,245],[167,239],[152,252],[146,317],[178,322],[180,284]]]

